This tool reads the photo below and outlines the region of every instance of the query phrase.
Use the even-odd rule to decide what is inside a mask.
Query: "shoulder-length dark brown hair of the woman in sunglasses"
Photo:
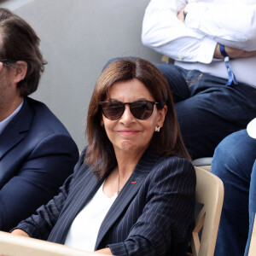
[[[122,58],[113,61],[102,71],[88,109],[86,163],[94,167],[98,178],[102,178],[117,164],[113,145],[101,125],[102,111],[99,102],[106,100],[108,91],[114,83],[131,79],[143,82],[155,102],[167,106],[164,125],[160,132],[154,132],[149,147],[155,148],[161,156],[176,155],[190,160],[177,123],[172,94],[166,78],[148,61],[140,58]]]

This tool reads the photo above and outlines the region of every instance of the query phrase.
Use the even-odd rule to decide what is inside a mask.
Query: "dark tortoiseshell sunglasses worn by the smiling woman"
[[[125,112],[125,104],[129,104],[130,111],[136,119],[148,119],[154,111],[154,104],[159,102],[150,101],[136,101],[136,102],[119,102],[119,101],[106,101],[99,102],[102,107],[102,113],[107,119],[119,119]]]

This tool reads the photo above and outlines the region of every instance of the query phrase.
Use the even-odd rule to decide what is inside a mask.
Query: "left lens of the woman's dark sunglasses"
[[[104,102],[102,104],[102,113],[107,119],[119,119],[124,110],[125,106],[122,102]]]

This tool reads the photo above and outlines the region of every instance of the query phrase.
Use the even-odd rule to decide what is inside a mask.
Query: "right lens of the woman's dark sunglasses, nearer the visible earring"
[[[137,101],[130,104],[131,113],[137,119],[148,119],[154,110],[154,102]]]

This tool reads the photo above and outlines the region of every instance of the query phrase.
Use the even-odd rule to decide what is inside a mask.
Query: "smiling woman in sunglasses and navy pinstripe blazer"
[[[109,255],[185,255],[195,170],[157,68],[142,59],[109,64],[90,100],[86,135],[60,194],[12,233]]]

